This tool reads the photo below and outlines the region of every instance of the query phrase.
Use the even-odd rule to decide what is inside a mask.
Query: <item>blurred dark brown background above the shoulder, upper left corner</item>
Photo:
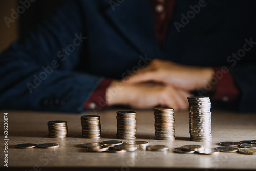
[[[32,0],[31,0],[32,1]],[[34,2],[33,2],[34,1]],[[0,53],[6,49],[11,42],[21,36],[29,33],[38,22],[47,18],[52,11],[62,1],[65,0],[0,0]],[[30,6],[26,9],[23,4]],[[21,6],[21,7],[20,7]],[[20,7],[20,8],[19,8]],[[17,12],[17,8],[24,8],[24,12],[17,17],[12,18],[13,10]],[[10,18],[12,22],[6,23],[6,19]]]

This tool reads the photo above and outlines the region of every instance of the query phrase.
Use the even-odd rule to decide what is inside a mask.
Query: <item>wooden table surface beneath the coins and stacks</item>
[[[217,147],[221,141],[241,141],[256,139],[256,114],[241,114],[225,111],[212,111],[212,136],[210,143],[190,141],[188,112],[175,112],[175,136],[173,141],[156,140],[154,137],[153,110],[135,110],[137,112],[137,139],[148,141],[150,145],[163,144],[170,147],[167,152],[137,150],[127,153],[89,153],[81,147],[83,143],[118,140],[116,134],[116,111],[109,109],[97,113],[83,114],[50,113],[35,111],[8,111],[8,166],[26,168],[26,170],[47,170],[49,168],[88,168],[111,170],[134,169],[230,169],[256,170],[256,155],[239,153],[220,153],[219,155],[177,154],[173,148],[188,144]],[[121,109],[124,110],[124,109]],[[1,111],[1,135],[3,115]],[[82,138],[81,115],[100,115],[102,136],[100,139]],[[66,120],[68,137],[48,138],[47,122]],[[1,136],[4,137],[4,136]],[[3,138],[4,141],[4,138]],[[127,142],[129,140],[122,140]],[[56,149],[17,149],[20,143],[58,143]],[[0,145],[4,151],[4,145]],[[4,153],[1,152],[3,159]],[[4,167],[1,162],[1,168]],[[41,169],[43,168],[43,169]],[[25,170],[25,169],[23,169]],[[56,169],[55,169],[56,170]]]

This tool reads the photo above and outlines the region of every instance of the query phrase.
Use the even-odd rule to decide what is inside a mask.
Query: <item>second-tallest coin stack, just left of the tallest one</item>
[[[154,108],[155,136],[158,140],[174,140],[174,109],[166,107]]]

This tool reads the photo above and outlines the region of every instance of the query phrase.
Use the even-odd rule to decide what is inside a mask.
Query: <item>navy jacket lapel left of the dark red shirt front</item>
[[[115,6],[109,4],[103,10],[118,32],[141,54],[159,51],[150,5],[148,0],[129,0]]]

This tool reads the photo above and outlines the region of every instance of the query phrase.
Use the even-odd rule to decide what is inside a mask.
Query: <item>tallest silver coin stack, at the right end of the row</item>
[[[209,142],[211,135],[211,103],[209,97],[188,97],[189,133],[193,141]]]

